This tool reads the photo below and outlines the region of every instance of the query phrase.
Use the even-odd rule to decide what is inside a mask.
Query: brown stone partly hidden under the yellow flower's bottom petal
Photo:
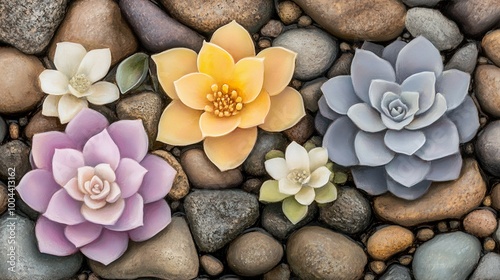
[[[239,169],[220,171],[201,149],[190,149],[181,155],[181,165],[194,188],[229,189],[243,183]]]

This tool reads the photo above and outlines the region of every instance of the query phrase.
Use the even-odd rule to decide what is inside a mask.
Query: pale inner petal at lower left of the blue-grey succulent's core
[[[363,131],[379,132],[386,129],[386,125],[380,118],[380,113],[366,103],[353,105],[347,111],[347,116]]]

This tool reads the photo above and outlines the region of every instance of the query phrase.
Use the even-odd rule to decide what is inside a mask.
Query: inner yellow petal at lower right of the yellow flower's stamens
[[[253,102],[243,105],[243,109],[240,111],[241,123],[239,127],[248,128],[263,124],[270,108],[269,94],[262,91]]]

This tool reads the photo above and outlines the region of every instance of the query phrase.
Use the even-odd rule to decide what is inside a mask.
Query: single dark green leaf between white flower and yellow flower
[[[139,86],[149,71],[149,56],[136,53],[123,60],[116,70],[116,83],[122,94]]]

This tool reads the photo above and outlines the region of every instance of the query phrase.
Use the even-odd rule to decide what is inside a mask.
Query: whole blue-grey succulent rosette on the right
[[[458,178],[459,145],[479,128],[470,75],[443,71],[424,37],[356,50],[350,76],[323,84],[316,127],[329,158],[352,167],[371,195],[422,196],[433,181]]]

